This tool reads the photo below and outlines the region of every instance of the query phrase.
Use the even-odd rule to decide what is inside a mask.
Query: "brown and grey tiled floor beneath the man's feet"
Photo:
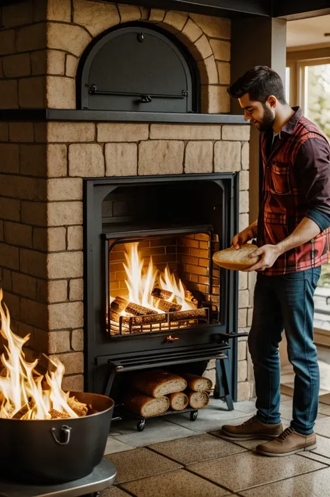
[[[292,399],[281,397],[283,425],[290,423]],[[199,411],[146,421],[113,423],[106,458],[116,465],[116,486],[102,497],[327,497],[330,496],[330,406],[320,404],[317,448],[289,457],[262,457],[260,440],[233,441],[221,425],[239,424],[255,413],[253,401],[228,412],[220,400]]]

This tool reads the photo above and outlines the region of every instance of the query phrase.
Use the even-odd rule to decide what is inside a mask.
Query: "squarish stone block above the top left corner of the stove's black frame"
[[[104,176],[102,146],[97,143],[69,145],[69,175],[82,178]]]

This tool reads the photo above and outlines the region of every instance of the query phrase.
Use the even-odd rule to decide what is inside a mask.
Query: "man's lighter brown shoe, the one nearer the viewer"
[[[301,452],[302,450],[313,449],[316,449],[315,433],[301,435],[300,433],[294,432],[293,428],[288,427],[277,437],[277,439],[257,445],[256,451],[258,454],[280,457],[292,455],[296,452]]]

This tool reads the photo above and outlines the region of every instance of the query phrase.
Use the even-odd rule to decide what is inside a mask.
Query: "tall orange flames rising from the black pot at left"
[[[0,375],[0,418],[13,418],[21,409],[24,409],[24,414],[20,419],[51,419],[50,409],[77,418],[68,405],[69,393],[63,392],[61,388],[65,372],[63,364],[57,358],[49,359],[56,370],[46,373],[49,388],[43,390],[44,377],[35,369],[38,359],[28,363],[22,350],[30,335],[20,338],[11,331],[10,314],[2,299],[0,289],[0,333],[8,342],[8,345],[4,345],[5,353],[0,357],[4,366]]]

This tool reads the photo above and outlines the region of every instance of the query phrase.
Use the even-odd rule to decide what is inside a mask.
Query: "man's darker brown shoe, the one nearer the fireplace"
[[[258,421],[256,416],[244,421],[242,425],[223,425],[222,432],[226,436],[232,436],[235,439],[276,439],[283,432],[282,423],[277,425],[265,425]]]

